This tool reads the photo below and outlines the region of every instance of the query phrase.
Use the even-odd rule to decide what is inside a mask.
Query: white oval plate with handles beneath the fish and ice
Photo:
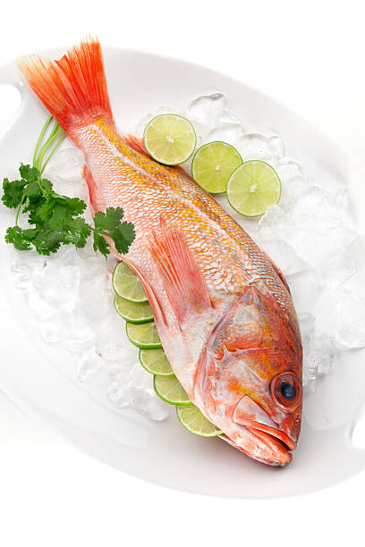
[[[46,53],[54,56],[63,51]],[[219,89],[233,109],[258,127],[275,128],[284,138],[288,156],[298,159],[315,178],[334,184],[347,181],[361,223],[364,164],[283,106],[222,74],[173,59],[106,49],[105,62],[121,130],[132,131],[141,116],[157,105],[179,108],[193,97]],[[21,109],[0,139],[1,174],[11,176],[20,160],[30,157],[45,111],[22,84],[14,63],[0,70],[0,83],[21,90]],[[284,469],[258,464],[218,439],[185,432],[173,411],[165,422],[153,422],[92,398],[70,374],[60,373],[63,366],[70,369],[68,353],[40,341],[31,316],[21,306],[3,239],[12,218],[0,207],[0,388],[31,416],[117,469],[189,492],[242,498],[299,494],[338,483],[365,466],[365,450],[355,449],[351,442],[365,393],[363,350],[340,356],[335,371],[318,382],[316,393],[305,400],[301,441],[293,463]],[[365,279],[364,251],[362,223],[360,268],[352,282]]]

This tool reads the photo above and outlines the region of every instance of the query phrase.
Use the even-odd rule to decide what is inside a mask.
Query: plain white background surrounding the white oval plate
[[[0,63],[96,33],[105,46],[175,56],[259,88],[365,160],[361,4],[6,2]],[[0,114],[4,120],[6,105]],[[277,501],[174,492],[90,459],[0,395],[4,547],[363,543],[364,487],[362,474],[325,492]]]

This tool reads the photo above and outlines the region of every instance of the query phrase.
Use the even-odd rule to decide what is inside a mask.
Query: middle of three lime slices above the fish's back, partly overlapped
[[[191,164],[195,181],[211,194],[225,191],[233,171],[242,164],[237,150],[226,142],[216,140],[200,147]]]

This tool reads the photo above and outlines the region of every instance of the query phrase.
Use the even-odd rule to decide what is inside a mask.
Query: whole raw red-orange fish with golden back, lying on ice
[[[301,428],[301,335],[282,273],[183,169],[118,135],[98,40],[19,65],[85,154],[94,212],[121,206],[134,224],[120,258],[143,283],[191,401],[238,450],[288,464]]]

